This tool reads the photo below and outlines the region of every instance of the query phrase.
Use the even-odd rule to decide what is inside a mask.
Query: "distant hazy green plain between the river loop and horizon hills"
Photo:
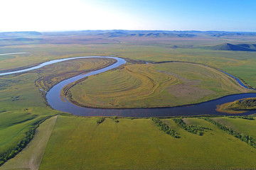
[[[1,60],[0,68],[15,69],[26,67],[38,62],[45,62],[57,58],[78,57],[90,55],[116,55],[132,60],[148,62],[184,61],[207,64],[210,67],[223,69],[247,84],[256,86],[255,52],[206,50],[204,45],[216,45],[220,42],[232,41],[241,43],[242,40],[201,40],[198,38],[181,38],[175,40],[161,40],[159,38],[125,40],[120,43],[91,43],[87,45],[13,45],[0,47],[3,52],[31,52],[30,54],[16,55],[15,58]],[[251,40],[252,41],[252,40]],[[193,47],[172,47],[173,45],[193,45]],[[11,55],[10,55],[11,56]]]

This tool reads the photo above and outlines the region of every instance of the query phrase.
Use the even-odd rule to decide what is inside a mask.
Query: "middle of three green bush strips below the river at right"
[[[211,130],[210,128],[204,128],[201,125],[186,125],[186,123],[184,123],[182,118],[174,118],[173,120],[178,126],[183,128],[184,130],[187,130],[188,132],[198,134],[198,135],[201,135],[201,136],[203,136],[203,132],[205,130]]]

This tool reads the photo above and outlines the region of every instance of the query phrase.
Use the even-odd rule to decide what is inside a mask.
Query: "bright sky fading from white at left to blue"
[[[255,0],[0,0],[0,31],[256,31]]]

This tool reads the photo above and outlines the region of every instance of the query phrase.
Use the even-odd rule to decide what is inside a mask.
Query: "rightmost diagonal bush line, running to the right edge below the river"
[[[213,123],[213,125],[217,125],[218,128],[220,128],[221,130],[224,130],[225,132],[228,132],[228,134],[233,135],[234,137],[238,137],[240,140],[242,140],[243,142],[246,142],[248,145],[250,145],[251,147],[256,148],[256,139],[254,139],[253,137],[251,137],[250,135],[246,135],[246,134],[240,134],[238,132],[235,132],[234,130],[228,128],[225,125],[221,125],[220,123],[215,122],[214,120],[210,119],[210,118],[202,118],[210,123]]]

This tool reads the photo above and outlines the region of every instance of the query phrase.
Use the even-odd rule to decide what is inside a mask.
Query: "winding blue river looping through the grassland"
[[[27,72],[33,69],[38,69],[41,67],[44,67],[48,64],[54,64],[57,62],[64,62],[67,60],[75,60],[75,59],[81,59],[81,58],[106,58],[106,57],[100,57],[100,56],[91,56],[91,57],[73,57],[73,58],[65,58],[65,59],[59,59],[59,60],[52,60],[49,62],[43,62],[42,64],[39,64],[36,67],[31,67],[28,69],[21,69],[15,72],[5,72],[1,73],[0,76],[7,75],[7,74],[15,74],[20,72]],[[107,70],[114,69],[116,67],[119,67],[119,65],[125,64],[126,61],[122,58],[118,57],[108,57],[117,60],[116,63],[105,67],[103,69],[98,69],[96,71],[87,73],[87,74],[80,74],[75,77],[71,77],[70,79],[65,79],[63,81],[60,81],[60,83],[53,86],[50,91],[46,94],[46,99],[49,103],[49,105],[58,111],[63,111],[67,113],[72,113],[73,115],[83,115],[83,116],[94,116],[94,115],[102,115],[102,116],[123,116],[123,117],[153,117],[153,116],[176,116],[176,115],[232,115],[228,113],[220,113],[218,111],[215,111],[215,108],[217,105],[235,101],[241,98],[251,98],[256,97],[256,93],[250,93],[250,94],[235,94],[230,96],[224,96],[223,98],[218,98],[212,101],[206,101],[203,103],[198,103],[194,105],[189,106],[177,106],[177,107],[170,107],[170,108],[85,108],[76,106],[73,103],[70,103],[69,101],[61,100],[60,98],[60,91],[63,89],[64,86],[77,81],[79,79],[82,79],[84,77],[89,77],[94,74],[100,74],[102,72],[106,72]],[[222,71],[223,72],[223,71]],[[227,74],[227,73],[225,73]],[[230,74],[228,74],[231,76]],[[233,76],[231,76],[233,77]],[[236,77],[237,81],[239,80]],[[244,86],[247,88],[242,82],[239,80],[238,83],[241,86]],[[246,113],[240,113],[235,115],[250,115],[252,113],[256,113],[256,111],[248,111]]]

